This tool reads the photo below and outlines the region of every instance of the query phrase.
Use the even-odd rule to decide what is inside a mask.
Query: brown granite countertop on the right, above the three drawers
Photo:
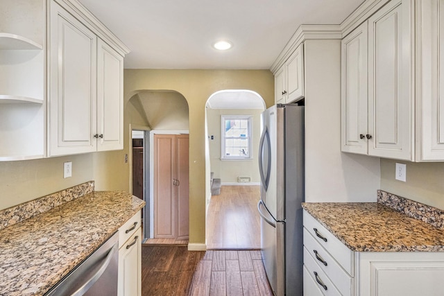
[[[377,202],[316,202],[302,207],[356,252],[444,252],[444,229]]]

